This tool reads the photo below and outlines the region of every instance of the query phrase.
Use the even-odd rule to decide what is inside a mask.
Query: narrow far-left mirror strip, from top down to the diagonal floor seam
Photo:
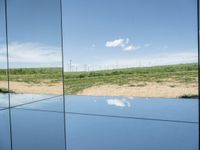
[[[5,0],[0,1],[0,110],[9,107]]]

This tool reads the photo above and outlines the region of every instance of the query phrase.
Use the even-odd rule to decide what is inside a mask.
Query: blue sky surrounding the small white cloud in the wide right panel
[[[195,0],[64,1],[66,61],[134,65],[145,59],[176,62],[181,57],[181,63],[182,57],[197,54],[195,4]],[[127,39],[125,47],[106,46]],[[161,57],[169,57],[168,62],[158,60]]]

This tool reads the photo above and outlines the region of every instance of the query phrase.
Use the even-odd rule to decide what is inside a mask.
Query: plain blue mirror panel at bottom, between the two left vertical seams
[[[63,113],[12,109],[13,149],[65,150]]]

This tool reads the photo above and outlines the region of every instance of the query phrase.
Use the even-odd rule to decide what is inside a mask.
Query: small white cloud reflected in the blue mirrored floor
[[[131,104],[126,99],[107,99],[108,105],[114,105],[117,107],[131,107]]]

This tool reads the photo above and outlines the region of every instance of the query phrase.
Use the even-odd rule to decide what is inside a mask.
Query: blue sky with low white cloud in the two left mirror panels
[[[0,22],[5,29],[4,13]],[[5,67],[5,34],[0,37],[0,67]],[[8,1],[8,39],[10,67],[60,67],[59,1]]]

